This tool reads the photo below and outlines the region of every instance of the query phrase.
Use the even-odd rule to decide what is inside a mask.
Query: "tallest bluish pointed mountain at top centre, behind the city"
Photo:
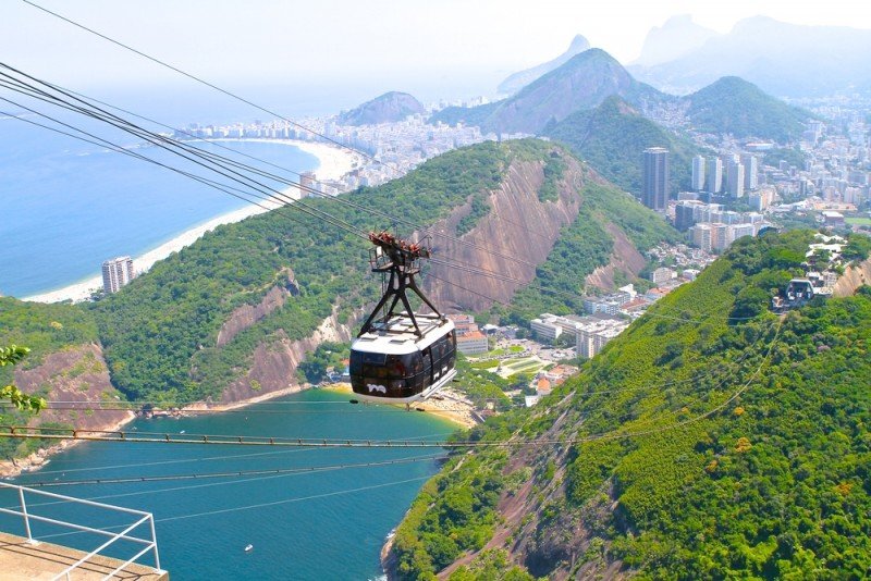
[[[484,133],[539,134],[549,123],[559,122],[582,109],[592,109],[612,95],[637,107],[672,100],[649,85],[638,83],[610,54],[590,49],[539,77],[519,92],[499,101],[461,110],[451,108],[432,121],[464,121],[481,126]]]

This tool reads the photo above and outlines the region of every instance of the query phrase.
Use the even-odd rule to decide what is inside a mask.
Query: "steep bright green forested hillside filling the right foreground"
[[[871,288],[768,310],[811,240],[736,242],[531,412],[463,436],[477,447],[424,486],[394,572],[864,578]]]

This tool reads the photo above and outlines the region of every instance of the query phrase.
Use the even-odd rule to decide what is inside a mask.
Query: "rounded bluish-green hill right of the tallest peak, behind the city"
[[[731,133],[738,138],[759,137],[782,144],[800,137],[803,124],[813,116],[736,76],[725,76],[684,101],[697,132]]]

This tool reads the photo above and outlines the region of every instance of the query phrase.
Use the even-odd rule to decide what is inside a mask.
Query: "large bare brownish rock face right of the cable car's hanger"
[[[520,282],[480,276],[433,263],[432,276],[426,277],[426,290],[437,305],[447,311],[488,309],[493,300],[484,296],[507,302],[520,286],[535,277],[536,267],[548,258],[560,237],[560,228],[572,223],[580,209],[579,190],[585,180],[581,168],[574,158],[563,159],[566,169],[557,201],[542,202],[538,198],[544,180],[540,162],[515,161],[502,186],[490,191],[490,213],[470,232],[459,236],[461,244],[438,236],[433,239],[436,256]],[[468,212],[469,205],[457,208],[430,230],[453,236],[457,223]],[[494,248],[499,249],[498,254]]]

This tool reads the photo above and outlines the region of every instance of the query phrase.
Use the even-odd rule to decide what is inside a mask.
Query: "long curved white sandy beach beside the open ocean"
[[[241,141],[243,139],[216,139],[216,140]],[[359,154],[354,153],[347,149],[342,149],[339,146],[311,143],[311,141],[297,141],[294,139],[245,139],[245,140],[291,145],[299,148],[302,151],[305,151],[306,153],[315,156],[316,158],[318,158],[318,166],[312,171],[316,173],[317,178],[319,181],[339,180],[340,177],[352,171],[352,169],[354,169],[355,166],[359,166],[361,164],[361,158]],[[299,189],[296,187],[290,187],[284,193],[287,194],[293,199],[299,199]],[[278,207],[278,205],[275,205],[275,207]],[[161,244],[157,248],[148,250],[144,255],[134,258],[133,270],[137,274],[146,272],[158,260],[162,260],[168,256],[170,256],[172,252],[177,252],[185,246],[194,244],[207,232],[211,232],[212,230],[222,224],[232,224],[234,222],[241,222],[246,218],[260,214],[263,212],[266,212],[266,209],[259,206],[250,205],[246,206],[245,208],[228,212],[223,215],[219,215],[218,218],[213,218],[212,220],[204,222],[203,224],[198,224],[183,232],[182,234],[172,238],[171,240]],[[64,286],[63,288],[58,288],[56,290],[50,290],[48,293],[24,297],[23,300],[30,300],[35,302],[61,302],[63,300],[72,300],[73,302],[78,302],[82,300],[86,300],[90,296],[93,290],[100,289],[101,287],[102,287],[102,276],[97,275],[77,282],[75,284]]]

